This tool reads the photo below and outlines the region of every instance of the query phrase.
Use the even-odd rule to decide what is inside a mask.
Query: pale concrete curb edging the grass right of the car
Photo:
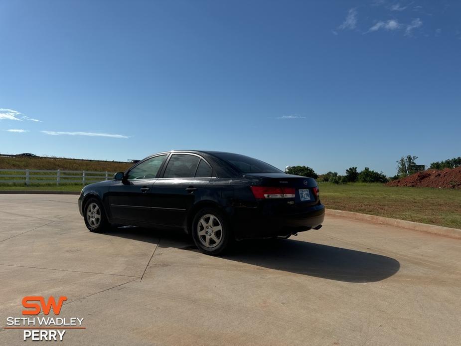
[[[433,234],[440,234],[440,235],[445,235],[445,236],[452,237],[452,238],[461,239],[461,229],[457,229],[457,228],[429,225],[426,223],[405,221],[405,220],[393,219],[390,217],[368,215],[368,214],[361,214],[361,213],[355,213],[351,211],[334,210],[334,209],[325,209],[325,214],[331,215],[331,216],[345,217],[345,218],[353,219],[353,220],[367,221],[370,223],[386,224],[386,225],[390,225],[394,227],[411,229],[414,231],[427,232],[427,233],[433,233]]]

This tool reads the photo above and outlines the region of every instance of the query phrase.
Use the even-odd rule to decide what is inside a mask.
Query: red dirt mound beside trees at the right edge
[[[387,186],[461,188],[461,167],[418,172],[402,179],[390,181]]]

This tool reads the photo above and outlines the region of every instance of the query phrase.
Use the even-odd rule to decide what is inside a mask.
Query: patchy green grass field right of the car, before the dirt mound
[[[327,182],[320,182],[319,187],[321,201],[330,209],[461,228],[459,189]]]

